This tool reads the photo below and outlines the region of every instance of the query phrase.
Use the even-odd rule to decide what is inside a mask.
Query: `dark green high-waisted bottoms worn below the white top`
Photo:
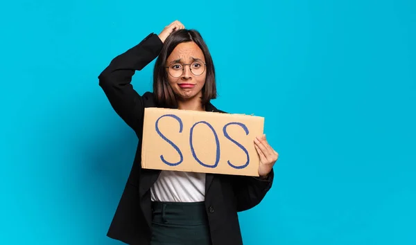
[[[211,245],[205,203],[153,202],[151,245]]]

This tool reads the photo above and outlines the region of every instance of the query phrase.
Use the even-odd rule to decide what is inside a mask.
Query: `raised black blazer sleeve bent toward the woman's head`
[[[162,50],[163,43],[150,33],[139,44],[114,57],[107,68],[98,75],[103,89],[116,114],[132,129],[141,130],[144,117],[144,98],[133,89],[131,81],[135,71],[141,71]]]

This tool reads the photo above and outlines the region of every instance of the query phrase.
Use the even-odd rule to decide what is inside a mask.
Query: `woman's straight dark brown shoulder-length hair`
[[[166,38],[162,51],[155,62],[155,69],[153,70],[153,93],[155,94],[156,102],[161,107],[176,108],[177,98],[171,85],[168,82],[168,73],[165,69],[166,60],[171,55],[173,49],[182,42],[195,42],[205,56],[205,64],[207,65],[207,76],[205,85],[202,88],[202,105],[206,105],[211,99],[215,99],[216,80],[214,62],[212,61],[211,53],[209,53],[207,44],[197,30],[177,30]]]

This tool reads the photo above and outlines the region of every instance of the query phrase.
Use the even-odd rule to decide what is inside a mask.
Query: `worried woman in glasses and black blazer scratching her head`
[[[153,93],[130,84],[157,57]],[[145,107],[223,112],[214,64],[196,30],[179,21],[115,57],[98,76],[110,104],[139,137],[137,154],[107,235],[127,244],[242,244],[237,212],[256,206],[271,188],[278,158],[265,136],[254,140],[259,177],[141,169]]]

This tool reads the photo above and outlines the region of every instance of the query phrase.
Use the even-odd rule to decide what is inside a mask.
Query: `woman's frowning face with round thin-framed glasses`
[[[166,67],[168,82],[180,100],[202,97],[207,71],[204,53],[196,43],[178,44],[166,60]]]

